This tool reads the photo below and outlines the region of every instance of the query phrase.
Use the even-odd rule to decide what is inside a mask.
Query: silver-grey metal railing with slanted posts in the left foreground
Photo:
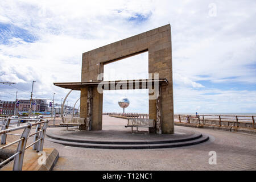
[[[11,142],[9,144],[6,144],[5,146],[0,147],[0,150],[3,150],[4,148],[10,147],[15,143],[18,143],[18,147],[16,148],[16,152],[14,155],[10,156],[10,158],[4,160],[2,163],[0,163],[0,167],[3,164],[6,164],[10,160],[14,159],[14,165],[13,165],[13,170],[14,171],[21,171],[22,170],[22,165],[23,165],[23,159],[24,159],[24,152],[27,148],[32,147],[32,150],[36,150],[36,152],[43,151],[43,144],[44,144],[44,137],[46,135],[46,129],[48,125],[48,120],[47,119],[22,119],[22,118],[0,118],[0,119],[5,119],[5,123],[2,126],[2,130],[0,131],[0,134],[2,134],[2,139],[1,139],[1,144],[6,144],[6,137],[7,135],[16,135],[20,136],[20,139],[15,140],[14,142]],[[10,121],[11,120],[16,120],[18,121],[18,125],[16,127],[11,127]],[[35,123],[26,123],[23,126],[20,126],[20,120],[23,121],[35,121]],[[41,125],[43,126],[41,127]],[[36,126],[36,131],[33,134],[30,134],[30,131],[33,126]],[[23,130],[22,134],[13,134],[10,133],[11,131],[17,131],[17,130]],[[31,144],[27,144],[27,139],[34,136],[34,142]]]

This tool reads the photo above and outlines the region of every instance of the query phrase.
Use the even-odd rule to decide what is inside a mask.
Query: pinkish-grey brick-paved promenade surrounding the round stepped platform
[[[130,131],[124,127],[126,122],[126,119],[104,115],[103,129]],[[77,148],[48,140],[45,140],[44,147],[54,147],[59,151],[60,158],[53,170],[256,170],[255,135],[175,128],[199,131],[209,135],[210,140],[195,146],[144,150]],[[208,163],[209,151],[216,151],[216,165]]]

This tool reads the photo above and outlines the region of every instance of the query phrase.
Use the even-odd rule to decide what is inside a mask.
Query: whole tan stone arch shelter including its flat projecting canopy
[[[54,83],[62,88],[81,90],[80,117],[86,118],[82,130],[102,129],[103,92],[98,92],[100,84],[104,84],[104,90],[127,89],[120,86],[120,81],[102,81],[103,76],[99,75],[104,73],[104,64],[147,51],[148,73],[154,76],[146,80],[121,81],[121,85],[131,84],[133,89],[138,89],[136,84],[139,84],[139,89],[148,89],[149,118],[156,123],[150,133],[174,133],[170,24],[82,53],[81,82]],[[155,92],[157,97],[151,99]]]

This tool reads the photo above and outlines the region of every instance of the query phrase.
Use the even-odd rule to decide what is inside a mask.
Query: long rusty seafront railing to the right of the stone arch
[[[179,122],[197,123],[199,125],[234,126],[255,129],[256,115],[190,115],[175,114]]]

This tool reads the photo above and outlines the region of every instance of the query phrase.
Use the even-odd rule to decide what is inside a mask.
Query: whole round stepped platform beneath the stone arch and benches
[[[47,140],[65,146],[108,149],[146,149],[191,146],[206,142],[209,137],[194,131],[181,130],[175,134],[146,134],[127,131],[47,130]]]

